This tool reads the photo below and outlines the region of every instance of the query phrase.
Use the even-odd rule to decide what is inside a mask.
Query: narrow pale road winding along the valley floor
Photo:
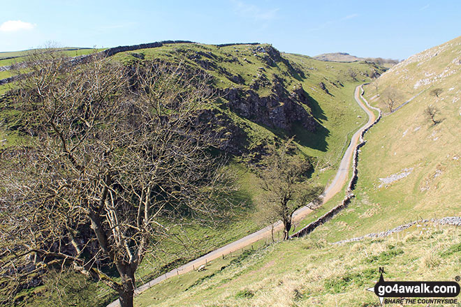
[[[363,100],[360,99],[360,98],[363,98],[363,96],[361,95],[362,90],[363,90],[362,85],[359,85],[358,87],[356,87],[354,98],[356,99],[356,102],[358,103],[358,105],[360,105],[360,107],[367,113],[368,121],[351,137],[351,142],[349,143],[349,147],[347,147],[346,151],[344,152],[344,156],[341,160],[341,163],[339,164],[339,169],[337,170],[336,176],[332,180],[331,184],[325,189],[325,192],[323,193],[323,202],[327,202],[328,200],[330,200],[340,190],[342,190],[344,184],[346,184],[346,181],[349,177],[349,169],[351,167],[353,151],[358,144],[360,134],[363,132],[363,130],[371,126],[372,123],[374,123],[376,119],[375,114],[371,110],[369,110],[367,105],[363,103]],[[309,213],[312,212],[312,209],[309,209],[308,206],[309,204],[295,211],[295,213],[293,214],[293,222],[298,222],[302,220],[302,218],[305,218]],[[283,225],[281,221],[279,221],[274,224],[274,230],[275,231],[281,230],[282,226]],[[222,257],[223,255],[228,255],[229,253],[233,253],[236,250],[240,250],[241,248],[251,246],[251,244],[254,244],[256,241],[270,237],[271,232],[272,232],[272,225],[269,225],[268,227],[265,227],[262,230],[258,230],[257,232],[249,234],[246,237],[243,237],[242,239],[239,239],[230,244],[227,244],[226,246],[218,248],[217,250],[213,250],[212,252],[207,253],[206,255],[203,255],[202,257],[197,258],[196,260],[188,262],[182,265],[181,267],[178,267],[177,269],[173,269],[172,271],[169,271],[166,274],[163,274],[153,280],[150,280],[149,283],[145,283],[144,285],[141,285],[135,290],[135,295],[138,295],[144,292],[145,290],[149,289],[149,287],[152,287],[153,285],[156,285],[157,283],[160,283],[163,280],[166,280],[168,278],[171,278],[173,276],[177,276],[180,274],[185,274],[189,271],[192,271],[195,268],[200,267],[203,264],[206,264],[207,262],[210,262],[219,257]],[[111,304],[108,305],[108,307],[117,307],[117,306],[120,306],[118,299],[117,301],[113,301]]]

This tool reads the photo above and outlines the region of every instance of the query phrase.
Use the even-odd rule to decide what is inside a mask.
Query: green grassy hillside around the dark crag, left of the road
[[[300,105],[305,114],[314,119],[317,128],[312,131],[300,123],[293,123],[289,128],[266,125],[258,119],[258,114],[242,115],[243,111],[235,109],[235,102],[229,96],[222,96],[216,104],[210,105],[219,116],[229,119],[231,126],[243,131],[239,146],[245,155],[235,156],[231,167],[239,174],[240,197],[247,202],[247,207],[237,212],[231,223],[219,229],[185,229],[193,248],[184,250],[180,244],[171,243],[161,246],[159,249],[163,251],[155,257],[147,257],[138,270],[138,283],[144,283],[164,271],[262,227],[254,218],[254,202],[261,193],[258,179],[242,161],[258,155],[267,140],[296,135],[295,142],[300,152],[316,160],[312,175],[315,182],[326,184],[335,173],[351,135],[366,121],[365,113],[353,100],[353,90],[356,84],[368,81],[375,71],[382,72],[382,68],[365,62],[327,63],[295,54],[279,54],[270,45],[217,47],[167,44],[159,48],[122,52],[111,58],[112,61],[122,61],[126,65],[140,59],[175,61],[193,69],[206,70],[214,77],[214,86],[218,91],[235,91],[244,98],[254,92],[256,100],[268,97],[275,100],[287,97],[291,99],[296,97],[296,92],[305,91],[307,100]],[[351,71],[354,76],[351,76]],[[282,89],[277,89],[280,86]],[[8,87],[11,85],[0,87],[0,91],[6,91]],[[282,101],[277,103],[283,104]],[[0,105],[0,138],[3,140],[0,148],[15,146],[24,139],[21,127],[29,120],[15,108],[14,102],[4,100]],[[57,281],[63,283],[60,288],[68,293],[64,297],[61,293],[52,291],[55,287],[50,280],[54,278],[48,276],[45,285],[18,294],[19,306],[103,306],[113,298],[113,294],[106,287],[89,283],[81,276],[68,273],[64,279],[59,278]]]

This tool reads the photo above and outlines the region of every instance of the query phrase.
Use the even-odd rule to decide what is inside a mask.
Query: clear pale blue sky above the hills
[[[461,35],[460,0],[2,1],[0,51],[47,41],[115,47],[159,40],[271,43],[314,56],[405,59]]]

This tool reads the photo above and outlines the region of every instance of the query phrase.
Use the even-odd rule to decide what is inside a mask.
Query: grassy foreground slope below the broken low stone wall
[[[460,246],[459,227],[432,223],[339,245],[309,236],[166,280],[142,293],[136,306],[377,307],[379,298],[365,289],[379,279],[379,267],[386,280],[453,280],[461,269]]]

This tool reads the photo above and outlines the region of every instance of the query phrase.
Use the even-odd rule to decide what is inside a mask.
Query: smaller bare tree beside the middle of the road
[[[284,223],[284,239],[288,239],[292,217],[296,209],[316,200],[323,188],[312,186],[307,173],[312,168],[308,160],[291,156],[294,151],[293,139],[280,147],[268,145],[268,156],[261,160],[261,186],[265,191],[263,197],[263,214],[273,223],[281,220]],[[315,202],[317,204],[317,202]]]

